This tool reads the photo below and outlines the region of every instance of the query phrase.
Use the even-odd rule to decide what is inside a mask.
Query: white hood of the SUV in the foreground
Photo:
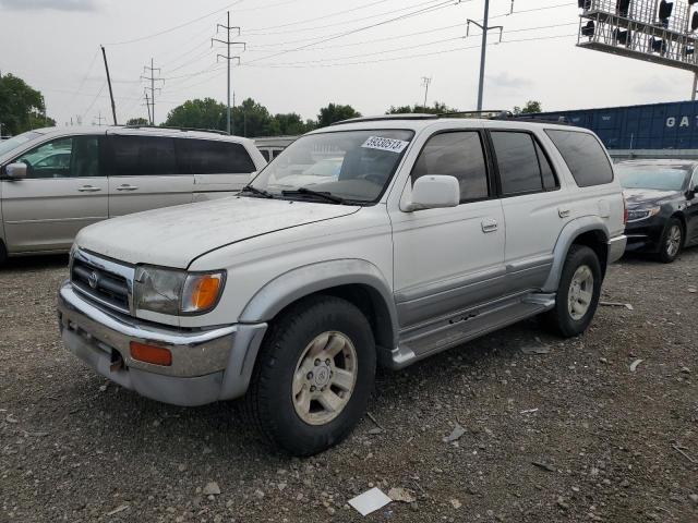
[[[184,269],[197,256],[249,238],[356,212],[360,207],[229,197],[148,210],[83,229],[76,244],[129,264]]]

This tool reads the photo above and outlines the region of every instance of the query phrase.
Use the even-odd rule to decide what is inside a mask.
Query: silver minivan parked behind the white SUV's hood
[[[266,160],[250,139],[160,127],[50,127],[0,144],[0,263],[68,252],[83,227],[239,192]]]

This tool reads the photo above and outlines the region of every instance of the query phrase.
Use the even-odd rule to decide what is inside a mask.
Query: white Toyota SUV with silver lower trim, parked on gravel
[[[246,393],[264,435],[312,454],[363,415],[376,364],[539,314],[583,332],[623,230],[589,131],[357,119],[302,136],[239,196],[84,229],[60,325],[123,387],[179,405]]]

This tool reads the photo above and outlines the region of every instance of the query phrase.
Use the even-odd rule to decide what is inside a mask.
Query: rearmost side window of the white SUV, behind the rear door
[[[613,181],[613,170],[603,147],[591,134],[578,131],[545,131],[559,150],[580,187]]]

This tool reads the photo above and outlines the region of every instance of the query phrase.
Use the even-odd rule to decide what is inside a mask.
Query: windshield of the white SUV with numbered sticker
[[[255,194],[263,191],[267,197],[372,203],[383,194],[413,134],[371,130],[305,135],[284,149],[251,185]]]

